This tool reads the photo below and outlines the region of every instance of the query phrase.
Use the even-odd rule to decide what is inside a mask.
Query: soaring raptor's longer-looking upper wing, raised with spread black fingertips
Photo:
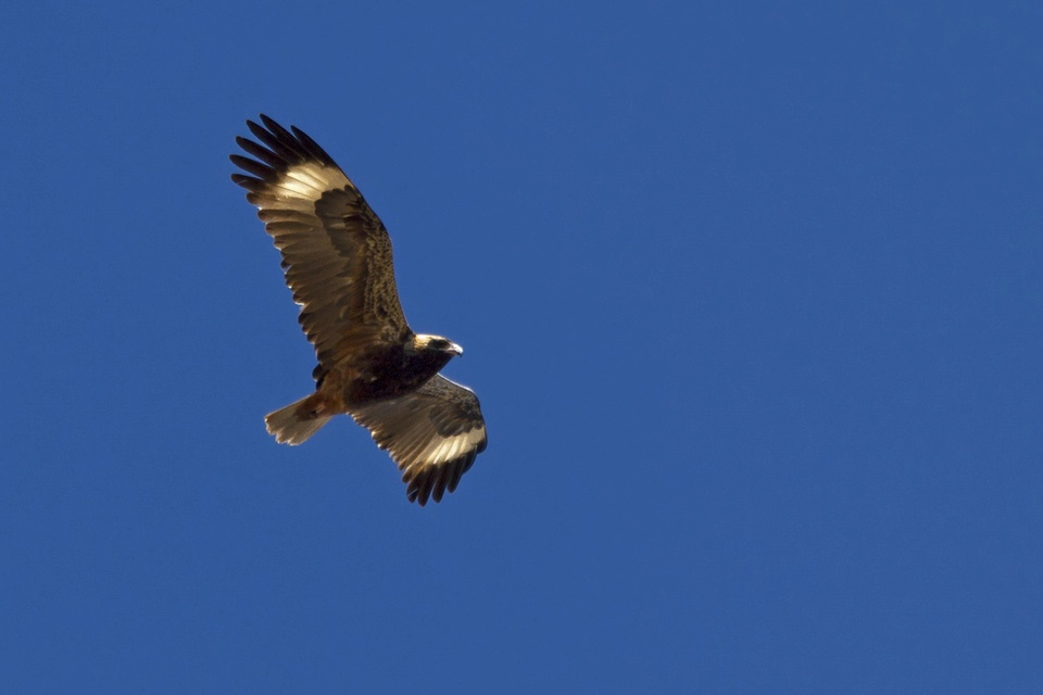
[[[286,283],[301,305],[300,323],[319,369],[375,341],[410,332],[394,286],[391,240],[380,218],[334,160],[303,131],[261,115],[248,121],[261,144],[236,142],[250,174],[231,179],[249,191],[265,229],[282,252]]]

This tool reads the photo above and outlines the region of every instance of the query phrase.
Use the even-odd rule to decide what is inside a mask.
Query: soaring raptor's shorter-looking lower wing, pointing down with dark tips
[[[352,410],[380,448],[386,448],[420,506],[440,502],[486,448],[486,422],[475,393],[441,375],[399,399]]]

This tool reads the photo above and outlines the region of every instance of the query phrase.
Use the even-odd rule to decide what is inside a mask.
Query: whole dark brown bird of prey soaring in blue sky
[[[233,154],[265,230],[282,253],[299,321],[315,346],[315,393],[269,413],[277,442],[300,444],[338,413],[366,427],[402,471],[411,502],[440,502],[486,448],[475,393],[439,375],[456,343],[415,333],[399,304],[391,240],[334,160],[299,128],[261,115],[257,142]]]

